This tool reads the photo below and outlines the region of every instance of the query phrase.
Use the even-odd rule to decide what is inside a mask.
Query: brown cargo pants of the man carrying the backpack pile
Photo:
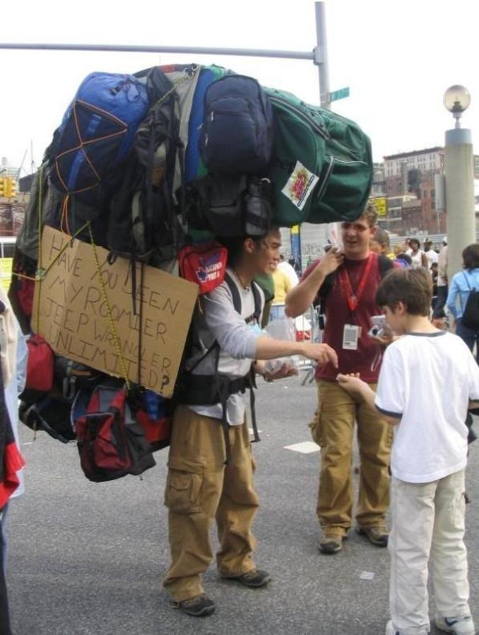
[[[259,501],[253,489],[248,428],[229,429],[231,463],[221,422],[178,406],[173,417],[165,505],[171,566],[163,583],[181,602],[203,593],[201,574],[213,559],[209,527],[216,518],[220,575],[237,577],[255,569],[251,525]]]

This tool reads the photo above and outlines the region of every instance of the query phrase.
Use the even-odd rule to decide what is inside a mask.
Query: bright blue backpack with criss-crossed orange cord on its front
[[[128,155],[149,108],[149,93],[132,75],[92,73],[81,83],[49,148],[52,184],[98,206],[100,185]]]

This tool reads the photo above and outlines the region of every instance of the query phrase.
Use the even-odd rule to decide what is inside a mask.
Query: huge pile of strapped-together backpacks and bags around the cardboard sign
[[[45,225],[88,243],[93,237],[111,261],[123,257],[174,271],[185,245],[201,250],[214,238],[262,235],[272,225],[357,219],[372,173],[370,142],[356,124],[253,78],[196,64],[93,73],[79,86],[35,176],[16,244],[13,308],[30,332]],[[42,348],[41,338],[32,346]],[[91,402],[101,403],[99,387],[106,387],[111,394],[103,411],[120,410],[129,421],[130,453],[137,458],[130,456],[129,467],[126,461],[99,470],[90,465],[91,448],[84,450],[87,477],[117,478],[154,465],[142,436],[155,448],[168,443],[168,404],[161,397],[136,387],[125,400],[119,380],[53,353],[47,363],[52,388],[28,386],[25,423],[62,441],[81,441],[84,426],[72,428],[70,413],[84,421]]]

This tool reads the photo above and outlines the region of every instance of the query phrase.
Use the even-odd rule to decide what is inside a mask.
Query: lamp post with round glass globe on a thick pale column
[[[462,251],[475,242],[474,168],[471,130],[461,128],[461,116],[471,103],[464,86],[451,86],[444,93],[444,106],[456,124],[446,130],[444,176],[446,182],[447,275],[462,269]]]

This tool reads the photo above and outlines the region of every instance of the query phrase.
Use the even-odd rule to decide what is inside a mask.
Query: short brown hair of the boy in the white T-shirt
[[[376,291],[378,306],[394,310],[399,302],[403,302],[410,315],[429,315],[431,300],[432,280],[425,267],[392,269]]]

